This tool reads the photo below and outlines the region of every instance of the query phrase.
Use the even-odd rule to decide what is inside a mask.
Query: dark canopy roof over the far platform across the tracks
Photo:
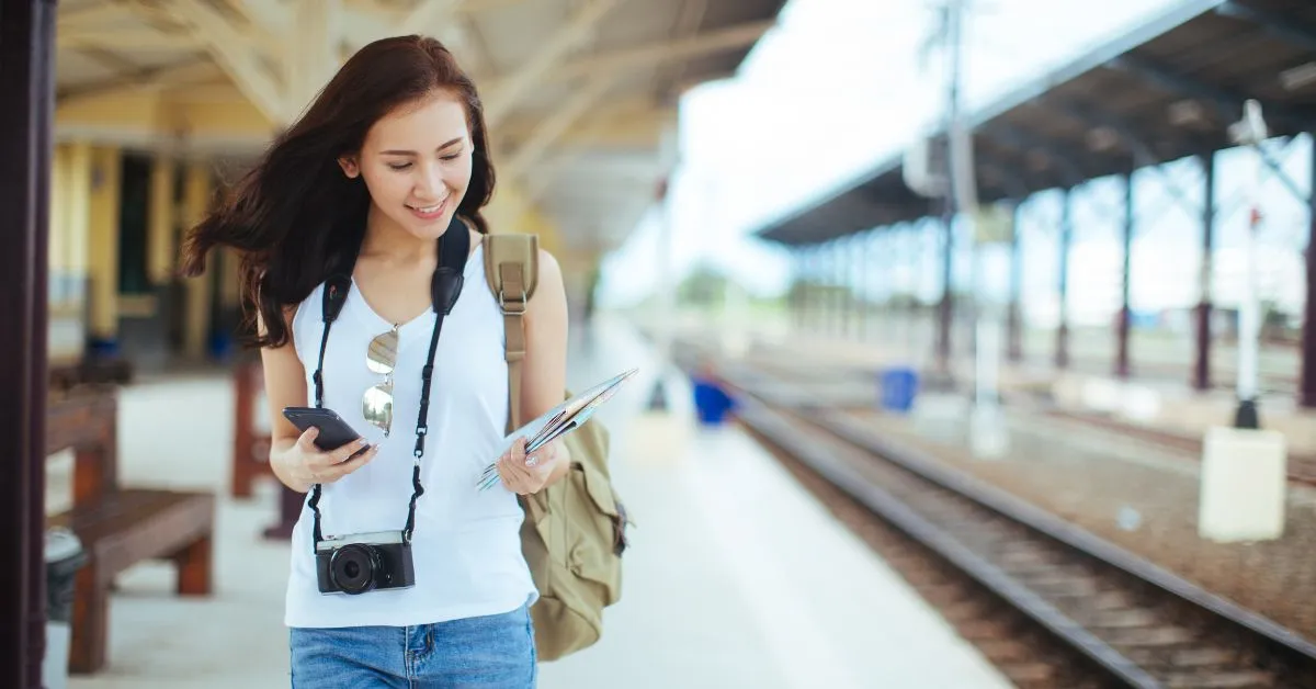
[[[1270,133],[1316,129],[1316,1],[1188,0],[971,115],[982,203],[1230,148],[1246,99]],[[944,132],[932,136],[944,148]],[[903,155],[757,234],[816,244],[936,216]]]

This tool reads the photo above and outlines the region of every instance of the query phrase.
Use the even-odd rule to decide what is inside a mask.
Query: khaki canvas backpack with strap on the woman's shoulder
[[[484,275],[503,311],[508,372],[508,432],[521,427],[521,316],[538,282],[538,237],[486,234]],[[570,391],[566,398],[570,398]],[[530,609],[541,660],[592,646],[603,634],[603,609],[621,598],[626,511],[608,473],[608,431],[591,419],[563,441],[571,452],[565,478],[522,495],[521,551],[540,590]]]

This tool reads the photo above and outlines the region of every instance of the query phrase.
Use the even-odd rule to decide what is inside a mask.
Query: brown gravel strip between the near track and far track
[[[733,385],[737,377],[767,379],[784,403],[821,410],[830,427],[879,437],[1004,490],[1300,634],[1316,627],[1316,607],[1294,603],[1316,593],[1309,566],[1316,485],[1292,473],[1303,466],[1292,457],[1283,534],[1215,543],[1198,528],[1200,449],[1007,400],[1001,429],[1008,449],[983,458],[973,449],[965,395],[930,393],[908,414],[884,411],[873,375],[880,354],[865,358],[858,348],[838,346],[851,356],[822,358],[816,345],[759,344],[721,358],[696,349]]]

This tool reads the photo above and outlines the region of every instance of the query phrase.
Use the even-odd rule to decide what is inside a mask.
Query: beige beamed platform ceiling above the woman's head
[[[653,203],[688,87],[732,75],[784,0],[63,0],[57,137],[250,158],[367,42],[445,41],[500,186],[583,249]]]

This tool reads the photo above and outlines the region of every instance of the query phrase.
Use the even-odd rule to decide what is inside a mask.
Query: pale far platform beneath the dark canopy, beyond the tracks
[[[653,324],[645,325],[646,331],[653,328]],[[784,323],[744,325],[733,332],[720,324],[697,320],[683,323],[676,335],[707,350],[766,357],[801,372],[817,366],[844,366],[871,383],[862,393],[870,399],[876,398],[882,370],[891,366],[930,370],[934,350],[929,323],[908,324],[899,319],[873,323],[866,331],[849,336]],[[957,356],[951,360],[951,374],[961,389],[974,385],[974,360],[965,344],[967,335],[965,328],[957,329]],[[1023,361],[1003,362],[999,368],[1003,395],[1070,414],[1104,418],[1113,422],[1117,429],[1154,431],[1180,444],[1200,440],[1212,426],[1232,423],[1237,406],[1233,391],[1237,352],[1228,343],[1212,349],[1213,386],[1199,391],[1190,385],[1192,354],[1184,343],[1134,337],[1132,374],[1121,379],[1112,373],[1108,332],[1071,333],[1071,358],[1066,369],[1057,369],[1053,362],[1053,339],[1054,333],[1026,333]],[[1262,348],[1258,407],[1265,427],[1282,432],[1290,455],[1309,461],[1316,477],[1316,411],[1300,408],[1296,403],[1299,364],[1298,352],[1292,348]]]

